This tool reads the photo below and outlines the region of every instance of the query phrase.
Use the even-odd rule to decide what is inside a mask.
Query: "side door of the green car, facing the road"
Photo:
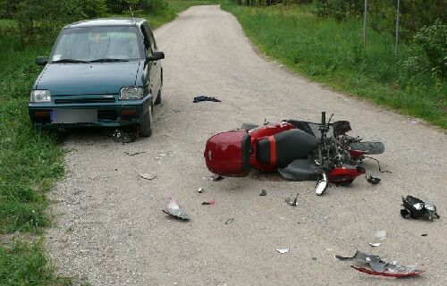
[[[146,23],[146,22],[145,22]],[[150,30],[148,30],[146,25],[141,25],[141,33],[143,35],[143,42],[145,47],[145,53],[146,58],[149,56],[152,56],[153,50],[150,45]],[[155,61],[148,61],[146,60],[144,62],[144,84],[145,88],[148,88],[149,93],[152,94],[153,98],[152,101],[156,100],[156,92],[158,92],[157,84],[156,84],[156,62]]]

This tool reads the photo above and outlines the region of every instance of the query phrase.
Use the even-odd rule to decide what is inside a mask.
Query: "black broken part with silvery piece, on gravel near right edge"
[[[434,218],[440,218],[436,213],[436,206],[431,204],[426,204],[419,198],[412,196],[407,196],[407,198],[402,197],[401,215],[403,218],[418,219],[423,218],[427,221],[433,222]]]

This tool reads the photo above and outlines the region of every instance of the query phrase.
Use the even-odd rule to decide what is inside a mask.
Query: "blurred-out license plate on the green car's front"
[[[54,109],[52,123],[88,123],[97,122],[97,109]]]

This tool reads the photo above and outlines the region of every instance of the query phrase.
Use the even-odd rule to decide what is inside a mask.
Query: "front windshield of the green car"
[[[52,62],[123,62],[141,58],[135,27],[89,27],[64,29]]]

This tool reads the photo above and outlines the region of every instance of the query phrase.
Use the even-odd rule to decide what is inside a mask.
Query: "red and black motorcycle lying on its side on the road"
[[[360,166],[369,155],[384,153],[382,142],[350,137],[350,122],[287,120],[262,126],[243,124],[239,130],[215,134],[207,140],[205,161],[209,171],[228,177],[244,177],[251,168],[280,172],[293,181],[318,181],[316,195],[323,195],[328,182],[350,184],[366,174]],[[378,162],[378,161],[377,161]],[[379,165],[380,171],[380,165]],[[380,179],[369,176],[375,184]]]

